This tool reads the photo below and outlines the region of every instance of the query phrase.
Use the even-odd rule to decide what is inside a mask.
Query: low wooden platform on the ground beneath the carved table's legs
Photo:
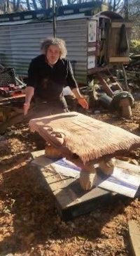
[[[78,179],[64,177],[58,174],[50,165],[46,165],[45,156],[42,155],[43,152],[31,153],[34,158],[31,166],[36,167],[41,172],[52,195],[55,197],[57,211],[65,221],[94,210],[97,207],[98,200],[104,201],[106,197],[111,195],[109,191],[102,188],[83,191]]]

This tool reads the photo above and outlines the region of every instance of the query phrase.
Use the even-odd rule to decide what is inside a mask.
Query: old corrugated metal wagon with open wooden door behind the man
[[[97,1],[59,7],[57,37],[66,41],[68,58],[79,85],[116,63],[128,63],[131,23]],[[51,14],[51,15],[50,15]],[[119,50],[121,30],[125,48]],[[124,31],[123,31],[124,32]],[[53,35],[52,9],[0,15],[0,62],[27,77],[32,58],[40,53],[41,40]]]

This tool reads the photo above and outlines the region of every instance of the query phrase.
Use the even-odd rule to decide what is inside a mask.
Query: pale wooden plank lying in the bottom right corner
[[[139,228],[134,221],[128,222],[129,233],[130,233],[130,243],[132,248],[132,253],[134,256],[140,255],[140,231]]]

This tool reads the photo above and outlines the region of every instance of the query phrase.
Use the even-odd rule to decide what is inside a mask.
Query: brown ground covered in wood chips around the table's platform
[[[93,117],[140,135],[139,113],[137,102],[132,120],[117,113]],[[99,203],[87,215],[63,222],[53,196],[29,165],[31,151],[44,149],[43,139],[31,133],[28,124],[9,127],[3,136],[10,148],[0,150],[1,256],[132,256],[128,221],[134,220],[140,228],[138,198],[118,195],[107,205]],[[139,148],[125,159],[140,163]]]

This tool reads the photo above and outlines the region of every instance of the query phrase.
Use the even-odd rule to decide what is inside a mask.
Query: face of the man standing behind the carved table
[[[59,47],[55,45],[50,45],[46,53],[48,64],[55,65],[55,63],[57,63],[57,60],[59,59],[59,56],[60,56]]]

